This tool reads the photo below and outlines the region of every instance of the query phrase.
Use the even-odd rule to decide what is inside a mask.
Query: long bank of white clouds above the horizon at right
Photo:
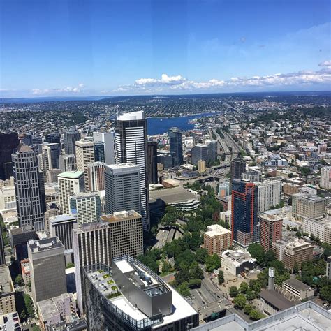
[[[275,73],[273,75],[246,77],[233,77],[230,80],[211,79],[206,82],[187,80],[182,75],[168,76],[165,73],[161,79],[140,78],[134,84],[118,87],[115,93],[171,93],[174,91],[226,91],[240,90],[244,87],[306,87],[314,84],[331,84],[331,68],[319,71],[298,71],[297,73]],[[329,86],[328,86],[329,89]]]

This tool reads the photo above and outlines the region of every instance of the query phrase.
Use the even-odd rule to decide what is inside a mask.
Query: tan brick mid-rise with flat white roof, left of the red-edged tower
[[[207,231],[203,234],[203,244],[209,255],[219,255],[231,246],[231,237],[230,230],[213,224],[207,226]]]

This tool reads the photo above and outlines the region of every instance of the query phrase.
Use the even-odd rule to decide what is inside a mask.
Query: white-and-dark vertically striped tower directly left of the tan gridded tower
[[[73,256],[78,309],[84,311],[82,293],[83,268],[90,264],[111,262],[110,223],[84,223],[73,229]]]

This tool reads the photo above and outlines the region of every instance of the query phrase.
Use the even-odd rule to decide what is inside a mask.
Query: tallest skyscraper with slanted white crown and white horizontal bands
[[[144,230],[149,228],[149,194],[146,177],[147,159],[147,125],[144,113],[128,112],[116,120],[115,130],[116,163],[135,163],[140,168],[140,211]],[[122,209],[123,210],[123,209]],[[114,210],[112,212],[118,212]]]

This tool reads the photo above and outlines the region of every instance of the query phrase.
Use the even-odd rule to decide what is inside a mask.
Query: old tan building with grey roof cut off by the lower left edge
[[[13,281],[9,268],[6,265],[0,265],[0,312],[6,315],[13,311],[16,311]]]

